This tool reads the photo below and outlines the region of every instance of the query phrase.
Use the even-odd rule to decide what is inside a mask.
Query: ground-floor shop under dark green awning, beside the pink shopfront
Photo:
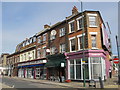
[[[61,78],[65,80],[66,77],[66,59],[64,54],[49,55],[48,62],[45,67],[47,68],[47,79],[58,80]]]

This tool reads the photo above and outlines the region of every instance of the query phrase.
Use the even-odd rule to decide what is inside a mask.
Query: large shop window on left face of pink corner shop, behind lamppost
[[[83,79],[83,67],[85,68],[85,78],[89,79],[89,64],[88,58],[85,59],[86,63],[81,63],[82,58],[70,60],[70,79],[80,80]]]

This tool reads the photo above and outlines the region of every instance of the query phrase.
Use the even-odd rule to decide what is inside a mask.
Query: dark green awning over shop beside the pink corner
[[[48,62],[45,64],[45,67],[60,67],[61,63],[66,65],[65,55],[64,54],[55,54],[47,56]]]

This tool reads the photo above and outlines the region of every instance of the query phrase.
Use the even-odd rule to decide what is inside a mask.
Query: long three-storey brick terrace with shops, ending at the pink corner
[[[110,40],[99,11],[78,12],[24,40],[8,56],[18,77],[34,79],[105,80],[111,67]],[[18,56],[17,56],[18,55]],[[11,59],[11,60],[9,60]],[[11,62],[9,62],[11,63]]]

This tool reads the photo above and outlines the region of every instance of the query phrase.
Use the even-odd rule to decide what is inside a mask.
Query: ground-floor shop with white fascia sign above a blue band
[[[18,64],[18,77],[46,79],[45,63],[46,60],[37,60]]]

